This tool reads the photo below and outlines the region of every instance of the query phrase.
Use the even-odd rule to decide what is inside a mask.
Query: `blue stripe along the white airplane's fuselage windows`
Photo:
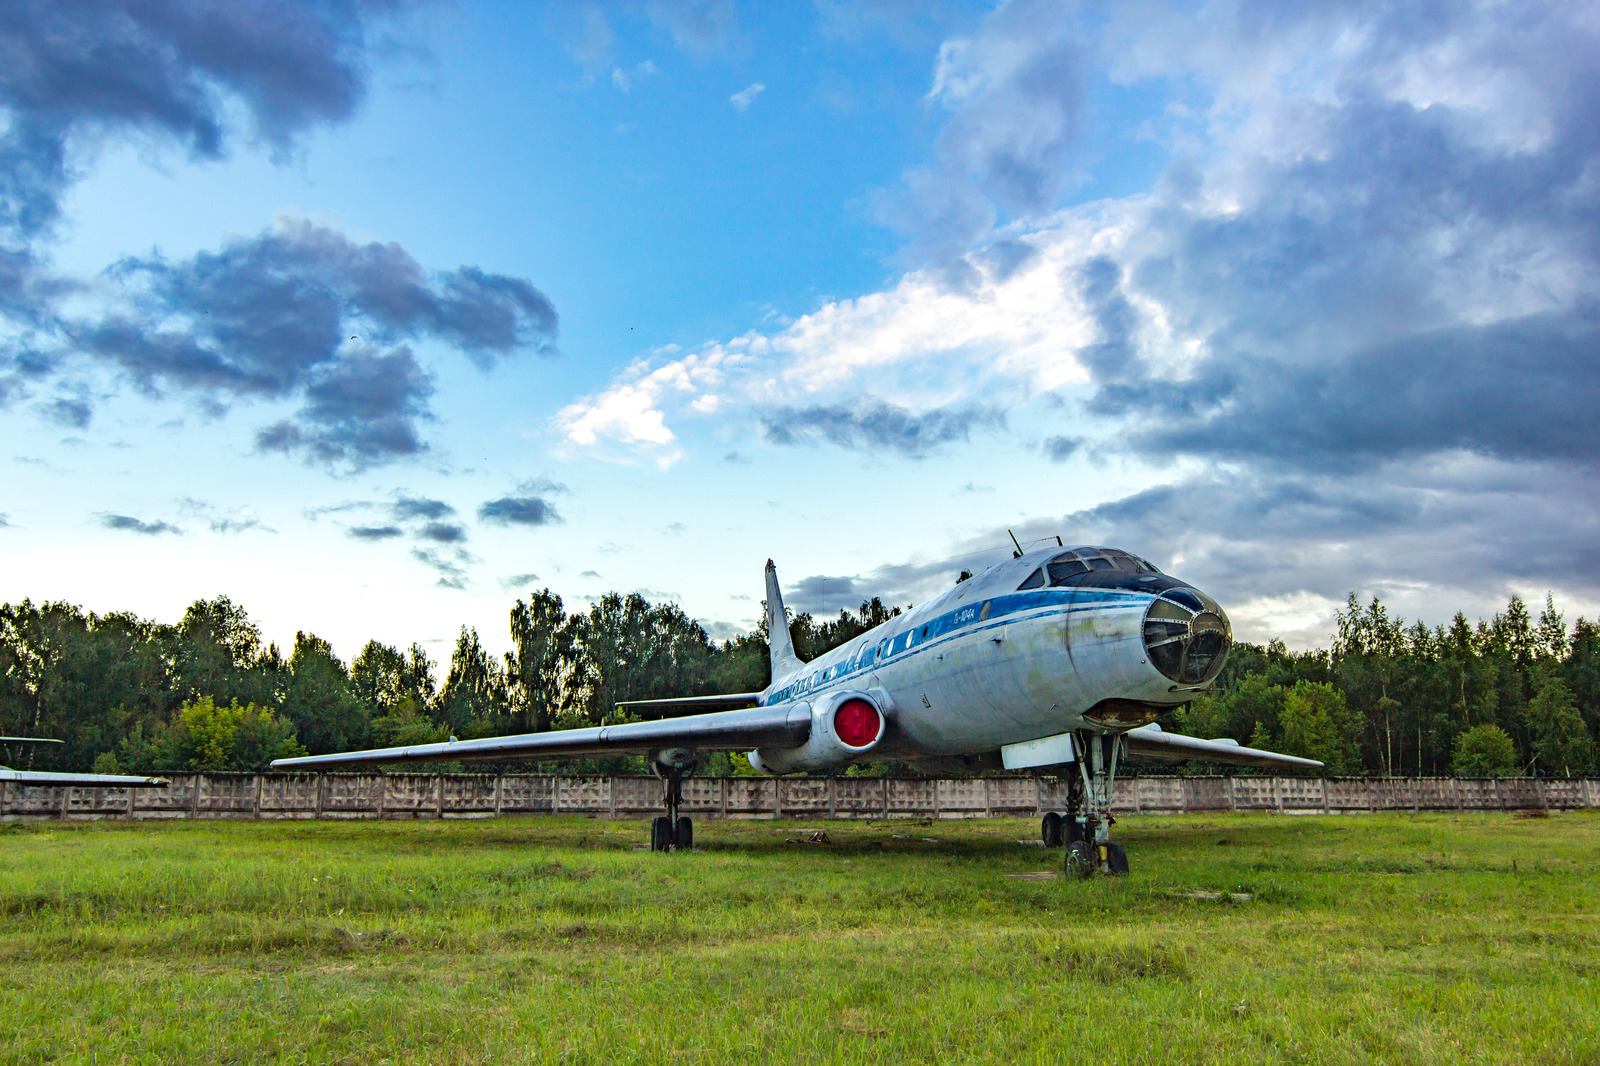
[[[1032,618],[1050,618],[1053,615],[1069,615],[1074,611],[1107,607],[1118,610],[1133,607],[1142,608],[1150,602],[1150,599],[1154,597],[1149,592],[1126,589],[1029,589],[1026,592],[1006,592],[990,597],[989,600],[966,603],[922,623],[920,626],[901,631],[893,637],[875,640],[874,643],[861,648],[858,655],[840,659],[838,663],[830,663],[829,666],[811,671],[805,677],[789,682],[782,688],[765,696],[762,699],[762,706],[798,699],[806,693],[832,687],[832,682],[835,680],[870,674],[883,663],[909,661],[910,656],[920,655],[926,648],[946,643],[957,635],[997,629],[1010,621],[1016,621],[1016,616],[1022,613],[1038,611],[1037,615],[1032,615]],[[986,602],[989,603],[989,616],[979,618]],[[885,655],[878,655],[878,650],[883,648],[885,643],[888,645],[888,651]],[[862,653],[869,651],[874,658],[866,664],[861,664],[858,659]]]

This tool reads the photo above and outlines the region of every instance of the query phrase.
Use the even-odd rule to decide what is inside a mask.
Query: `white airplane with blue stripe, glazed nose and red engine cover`
[[[1013,538],[1014,539],[1014,538]],[[659,717],[595,728],[488,736],[274,760],[274,770],[638,752],[664,783],[651,850],[693,845],[682,781],[702,752],[746,751],[762,773],[898,759],[926,770],[1056,768],[1067,812],[1046,813],[1077,877],[1123,874],[1110,839],[1112,783],[1125,759],[1322,768],[1312,759],[1163,731],[1157,715],[1206,691],[1232,647],[1210,595],[1115,547],[1024,552],[802,663],[778,570],[766,560],[771,683],[760,691],[619,703]]]

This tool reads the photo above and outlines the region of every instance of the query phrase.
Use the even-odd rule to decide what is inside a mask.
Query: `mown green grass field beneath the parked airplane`
[[[0,1061],[1600,1061],[1597,813],[696,829],[0,826]]]

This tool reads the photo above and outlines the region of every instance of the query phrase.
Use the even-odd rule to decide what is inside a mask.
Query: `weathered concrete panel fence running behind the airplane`
[[[1600,807],[1600,779],[1571,778],[1120,778],[1118,815]],[[174,773],[165,789],[0,783],[0,820],[98,818],[643,818],[664,810],[654,778],[424,773]],[[1064,810],[1058,778],[690,778],[699,818],[992,818]]]

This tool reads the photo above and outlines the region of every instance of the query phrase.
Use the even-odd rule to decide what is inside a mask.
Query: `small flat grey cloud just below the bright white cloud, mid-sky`
[[[974,427],[1003,424],[1005,415],[995,408],[939,408],[914,415],[870,397],[848,405],[779,407],[762,415],[762,431],[774,445],[821,439],[840,448],[888,448],[914,459],[939,445],[966,440]]]

